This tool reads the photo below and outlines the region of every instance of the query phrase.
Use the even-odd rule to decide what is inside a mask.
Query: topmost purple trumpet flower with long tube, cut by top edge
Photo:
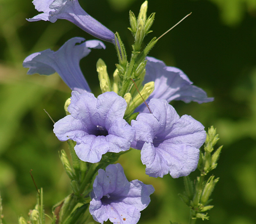
[[[115,34],[85,12],[78,0],[34,0],[33,4],[38,12],[43,13],[28,19],[28,21],[68,20],[92,36],[115,44]]]

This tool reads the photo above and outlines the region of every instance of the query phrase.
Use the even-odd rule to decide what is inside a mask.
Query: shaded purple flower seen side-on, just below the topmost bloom
[[[84,90],[90,92],[90,87],[79,67],[79,61],[91,52],[91,48],[105,49],[105,45],[98,40],[88,40],[77,44],[84,40],[82,37],[74,37],[56,52],[47,49],[33,53],[23,61],[23,67],[29,68],[29,75],[35,73],[51,75],[57,72],[71,90],[80,93]]]

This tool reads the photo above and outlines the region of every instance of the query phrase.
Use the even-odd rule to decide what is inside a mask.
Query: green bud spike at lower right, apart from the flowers
[[[212,201],[210,196],[216,183],[219,181],[219,178],[215,178],[214,175],[211,175],[208,180],[205,180],[206,175],[217,167],[217,160],[222,148],[222,146],[220,146],[213,152],[213,147],[219,140],[216,129],[214,129],[213,126],[208,129],[206,134],[204,153],[200,152],[200,159],[197,166],[197,169],[201,172],[200,176],[198,176],[195,181],[184,177],[185,192],[179,195],[190,208],[189,224],[195,223],[196,219],[209,219],[207,213],[204,212],[213,208],[213,205],[209,205]]]

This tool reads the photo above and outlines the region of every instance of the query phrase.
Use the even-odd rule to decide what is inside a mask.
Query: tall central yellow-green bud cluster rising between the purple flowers
[[[116,33],[116,49],[119,64],[116,64],[112,85],[104,61],[99,59],[96,66],[101,92],[114,91],[126,100],[127,109],[124,119],[127,121],[130,120],[135,108],[145,102],[149,95],[154,91],[154,82],[147,83],[143,86],[147,63],[145,57],[157,42],[156,37],[154,37],[143,49],[143,40],[148,33],[152,32],[149,29],[155,18],[155,13],[152,13],[147,17],[147,10],[148,1],[145,1],[140,7],[140,12],[137,18],[132,11],[129,13],[131,28],[128,29],[132,32],[134,37],[130,62],[127,61],[124,44],[119,34]],[[136,116],[133,117],[136,118]]]

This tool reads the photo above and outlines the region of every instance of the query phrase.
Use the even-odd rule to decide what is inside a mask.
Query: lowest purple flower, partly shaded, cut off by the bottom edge
[[[139,180],[128,182],[120,164],[110,164],[106,172],[99,169],[93,183],[89,211],[101,224],[108,219],[114,224],[136,224],[155,191]]]

